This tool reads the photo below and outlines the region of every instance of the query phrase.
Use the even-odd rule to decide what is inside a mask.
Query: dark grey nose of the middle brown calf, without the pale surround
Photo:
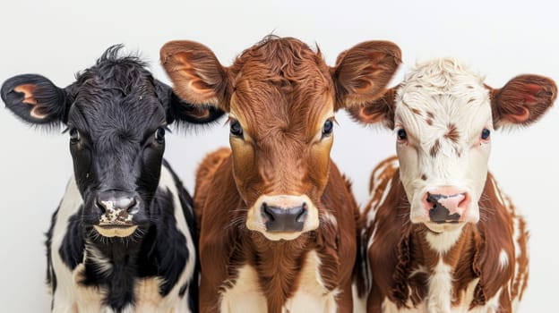
[[[262,217],[270,233],[301,232],[307,216],[306,204],[300,207],[270,207],[262,204]]]

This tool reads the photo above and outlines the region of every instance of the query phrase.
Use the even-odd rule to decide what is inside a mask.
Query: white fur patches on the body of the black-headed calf
[[[170,190],[173,195],[175,218],[177,221],[176,227],[185,235],[190,258],[175,286],[165,298],[159,295],[159,284],[162,283],[159,279],[139,280],[134,286],[134,292],[137,297],[136,306],[129,306],[124,309],[124,312],[190,312],[188,301],[185,298],[179,298],[178,293],[180,288],[193,275],[196,254],[193,239],[188,231],[188,225],[185,222],[185,216],[180,199],[178,198],[178,190],[171,173],[164,166],[161,167],[159,189]],[[77,189],[75,180],[72,178],[66,187],[64,198],[58,209],[52,237],[51,253],[57,282],[56,292],[53,295],[53,312],[113,312],[112,309],[102,305],[103,295],[107,292],[106,290],[97,287],[84,287],[77,283],[84,269],[83,263],[76,266],[73,271],[70,271],[58,253],[67,230],[68,218],[75,214],[81,205],[82,197]],[[192,210],[192,207],[189,207],[189,209]],[[112,271],[112,265],[108,259],[89,244],[86,244],[84,258],[94,258],[101,265],[99,267],[101,272],[107,272],[108,274],[108,272]]]

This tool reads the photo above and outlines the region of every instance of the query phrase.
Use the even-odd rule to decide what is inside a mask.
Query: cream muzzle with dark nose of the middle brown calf
[[[246,216],[246,228],[271,241],[294,240],[318,224],[318,209],[305,195],[261,196]]]

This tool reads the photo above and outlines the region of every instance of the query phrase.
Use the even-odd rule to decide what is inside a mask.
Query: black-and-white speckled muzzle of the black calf
[[[105,237],[127,237],[138,228],[133,217],[140,211],[138,195],[125,191],[99,192],[96,206],[99,208],[99,224],[95,230]]]

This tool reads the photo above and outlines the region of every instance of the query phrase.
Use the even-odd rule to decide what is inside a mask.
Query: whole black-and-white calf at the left
[[[66,88],[37,74],[6,80],[22,121],[66,126],[73,177],[47,232],[53,312],[195,312],[198,262],[192,198],[163,160],[176,121],[223,112],[191,106],[147,64],[109,47]]]

